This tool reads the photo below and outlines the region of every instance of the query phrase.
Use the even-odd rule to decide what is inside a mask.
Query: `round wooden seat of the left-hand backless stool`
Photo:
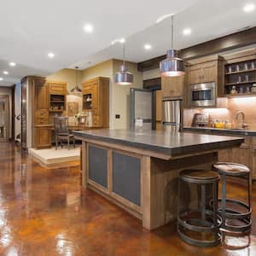
[[[218,172],[203,170],[184,170],[179,177],[189,183],[214,183],[220,178]]]

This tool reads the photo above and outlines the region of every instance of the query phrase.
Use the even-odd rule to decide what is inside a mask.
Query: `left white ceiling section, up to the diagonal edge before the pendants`
[[[106,49],[116,38],[151,26],[160,15],[177,13],[196,0],[8,0],[0,9],[0,85],[14,84],[20,75],[48,75]],[[84,32],[91,23],[95,31]],[[50,60],[48,53],[54,52]],[[6,62],[7,61],[7,62]],[[7,63],[15,61],[10,69]]]

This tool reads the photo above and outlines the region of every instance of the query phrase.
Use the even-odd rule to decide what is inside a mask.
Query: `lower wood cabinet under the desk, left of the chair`
[[[35,128],[35,148],[49,148],[51,146],[51,129],[48,127]]]

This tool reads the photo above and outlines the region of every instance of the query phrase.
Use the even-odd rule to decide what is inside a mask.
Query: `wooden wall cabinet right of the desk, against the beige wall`
[[[83,110],[91,113],[92,126],[109,126],[109,79],[98,77],[82,83]]]

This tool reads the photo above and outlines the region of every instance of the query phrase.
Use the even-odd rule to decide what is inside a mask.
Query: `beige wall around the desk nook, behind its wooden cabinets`
[[[109,78],[109,127],[110,129],[129,128],[130,124],[130,88],[143,88],[143,73],[137,71],[137,64],[126,62],[131,73],[134,74],[134,84],[131,86],[122,86],[114,83],[115,73],[119,71],[122,61],[109,60],[104,61],[94,67],[89,67],[79,71],[79,86],[82,82],[96,77]],[[63,69],[47,77],[47,80],[67,82],[67,90],[70,91],[75,85],[75,71],[72,69]],[[67,102],[79,103],[79,111],[82,111],[82,99],[77,96],[67,96]],[[120,119],[115,119],[119,114]],[[70,119],[72,122],[72,118]]]

